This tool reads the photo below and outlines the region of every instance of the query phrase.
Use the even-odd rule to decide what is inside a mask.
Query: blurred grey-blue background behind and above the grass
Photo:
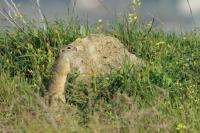
[[[29,19],[38,19],[39,14],[33,6],[32,0],[13,0],[20,11]],[[130,12],[131,0],[40,0],[40,6],[49,21],[67,19],[74,12],[81,19],[92,22],[95,19],[112,21],[115,15]],[[141,0],[137,10],[140,21],[148,22],[155,18],[156,26],[165,31],[191,31],[200,25],[200,0],[189,0],[192,14],[187,0]],[[0,0],[0,8],[8,10],[4,0]],[[71,12],[69,12],[71,8]],[[74,14],[73,14],[74,15]],[[0,14],[0,27],[8,24]]]

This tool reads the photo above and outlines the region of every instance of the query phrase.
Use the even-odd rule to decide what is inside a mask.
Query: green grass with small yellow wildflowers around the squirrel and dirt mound
[[[200,130],[199,32],[165,33],[148,25],[77,19],[28,24],[0,33],[0,132],[198,132]],[[110,75],[74,85],[71,73],[64,110],[52,113],[43,98],[59,49],[90,33],[117,37],[143,60]]]

